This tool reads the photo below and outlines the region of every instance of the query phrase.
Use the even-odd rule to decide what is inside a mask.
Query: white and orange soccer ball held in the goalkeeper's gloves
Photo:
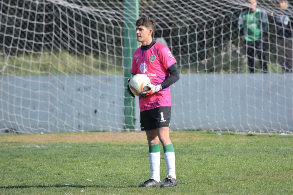
[[[140,92],[149,90],[147,84],[151,84],[147,75],[136,74],[130,79],[129,88],[134,95],[139,95]]]

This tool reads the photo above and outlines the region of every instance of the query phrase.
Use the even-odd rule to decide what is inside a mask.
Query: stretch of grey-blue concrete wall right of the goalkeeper
[[[172,86],[172,128],[293,131],[292,81],[292,74],[182,76]]]

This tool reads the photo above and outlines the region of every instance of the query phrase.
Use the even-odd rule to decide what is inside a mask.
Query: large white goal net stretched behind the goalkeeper
[[[275,1],[257,6],[268,18],[268,73],[256,55],[250,74],[238,27],[247,1],[2,0],[0,133],[140,131],[138,98],[125,91],[125,53],[139,47],[125,45],[136,6],[139,17],[156,19],[155,40],[178,62],[171,129],[293,131],[293,77],[282,73],[275,23],[284,11]]]

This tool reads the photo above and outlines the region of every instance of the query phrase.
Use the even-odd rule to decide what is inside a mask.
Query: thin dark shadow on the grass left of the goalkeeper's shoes
[[[0,186],[0,189],[22,189],[22,188],[50,188],[50,187],[55,187],[55,188],[60,188],[60,187],[69,187],[69,188],[109,188],[108,185],[36,185],[36,186],[28,186],[28,185],[22,185],[22,186]],[[137,187],[134,185],[131,186],[116,186],[115,188],[126,188],[126,187]]]

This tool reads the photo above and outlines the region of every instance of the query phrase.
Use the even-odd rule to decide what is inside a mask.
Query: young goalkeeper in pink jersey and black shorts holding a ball
[[[155,42],[153,35],[156,21],[149,17],[136,21],[137,41],[141,43],[133,54],[131,73],[145,74],[151,80],[150,90],[139,94],[140,128],[146,132],[149,144],[151,178],[139,187],[173,187],[177,185],[175,152],[169,137],[171,118],[171,94],[169,86],[179,80],[177,61],[168,47]],[[129,82],[129,80],[128,80]],[[128,93],[133,93],[126,86]],[[163,145],[168,176],[160,180],[160,147]]]

